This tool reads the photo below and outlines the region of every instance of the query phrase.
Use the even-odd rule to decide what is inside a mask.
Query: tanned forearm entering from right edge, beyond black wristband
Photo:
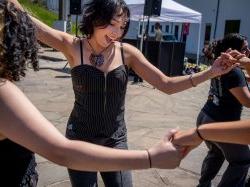
[[[250,144],[250,120],[210,123],[199,127],[205,140]]]

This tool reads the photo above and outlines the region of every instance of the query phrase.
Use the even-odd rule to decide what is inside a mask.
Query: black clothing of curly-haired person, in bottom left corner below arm
[[[34,154],[9,139],[0,141],[0,150],[0,186],[36,186]]]

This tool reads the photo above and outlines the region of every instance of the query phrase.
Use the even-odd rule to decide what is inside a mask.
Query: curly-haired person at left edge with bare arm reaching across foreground
[[[34,153],[85,171],[175,168],[181,149],[170,142],[174,131],[148,150],[118,150],[64,137],[12,82],[38,70],[33,22],[25,12],[0,0],[0,186],[34,187]]]

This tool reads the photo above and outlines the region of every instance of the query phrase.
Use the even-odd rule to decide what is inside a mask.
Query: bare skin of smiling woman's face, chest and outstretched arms
[[[12,1],[17,7],[23,10],[18,1],[9,1]],[[82,41],[84,65],[92,65],[89,60],[92,53],[99,54],[102,52],[104,63],[95,68],[104,74],[109,73],[119,66],[126,65],[149,84],[168,95],[184,91],[192,88],[193,85],[198,85],[208,79],[228,73],[236,66],[231,61],[226,60],[230,56],[226,54],[222,55],[207,70],[194,74],[191,77],[191,82],[189,75],[178,77],[166,76],[157,67],[153,66],[141,51],[127,43],[123,43],[122,48],[124,52],[123,64],[121,43],[119,40],[123,36],[124,27],[128,20],[127,15],[121,9],[117,10],[117,14],[110,21],[110,24],[94,27],[94,32],[89,38],[79,39],[68,33],[50,28],[34,17],[31,17],[31,19],[36,27],[37,39],[62,52],[71,68],[81,65],[80,41]],[[171,159],[171,157],[168,159]],[[169,161],[168,164],[170,163]]]

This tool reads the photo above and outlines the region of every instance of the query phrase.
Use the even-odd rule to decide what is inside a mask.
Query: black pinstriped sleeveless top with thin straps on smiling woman
[[[125,94],[128,68],[123,64],[105,74],[94,66],[83,63],[80,41],[81,65],[72,68],[75,94],[66,136],[71,139],[114,138],[126,135],[124,121]]]

